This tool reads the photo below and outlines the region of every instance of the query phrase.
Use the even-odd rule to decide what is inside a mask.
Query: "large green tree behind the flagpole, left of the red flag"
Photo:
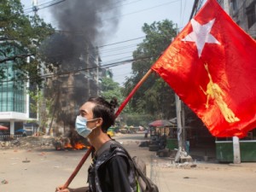
[[[146,38],[133,52],[133,58],[137,61],[132,63],[130,79],[125,82],[125,96],[143,78],[148,69],[158,59],[162,51],[171,43],[176,36],[176,29],[171,20],[154,22],[151,25],[144,24],[143,32]],[[147,58],[140,60],[140,58]],[[149,113],[156,119],[171,119],[176,116],[174,92],[165,81],[158,76],[151,75],[143,83],[137,93],[131,98],[131,108],[137,113]]]

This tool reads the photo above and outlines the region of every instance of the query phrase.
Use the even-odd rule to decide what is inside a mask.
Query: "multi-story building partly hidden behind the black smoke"
[[[89,41],[70,37],[65,32],[57,36],[72,38],[77,45],[72,55],[67,51],[65,56],[59,57],[61,64],[55,74],[46,79],[44,89],[44,96],[54,100],[48,126],[55,132],[64,133],[73,129],[79,107],[90,96],[99,96],[100,79],[106,74],[97,49]]]

